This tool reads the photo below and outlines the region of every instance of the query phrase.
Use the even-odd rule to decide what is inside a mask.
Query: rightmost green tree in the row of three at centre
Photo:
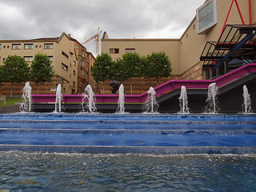
[[[159,85],[160,78],[170,76],[170,59],[165,52],[152,53],[151,55],[147,55],[146,62],[143,62],[142,69],[145,78],[155,78]]]

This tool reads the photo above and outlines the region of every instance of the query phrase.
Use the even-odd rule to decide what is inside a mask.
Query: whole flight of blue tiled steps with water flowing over
[[[252,154],[255,120],[243,114],[1,114],[0,150]]]

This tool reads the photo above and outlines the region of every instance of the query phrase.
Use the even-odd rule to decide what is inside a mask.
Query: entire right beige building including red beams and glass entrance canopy
[[[196,10],[196,16],[181,38],[108,38],[108,35],[104,35],[102,53],[110,54],[115,60],[126,52],[146,56],[164,51],[172,63],[168,80],[214,78],[245,63],[255,62],[254,36],[235,50],[234,54],[228,55],[217,70],[212,70],[242,41],[248,31],[255,31],[255,24],[256,0],[206,0]],[[148,80],[135,79],[133,86],[138,90],[137,94],[146,91],[149,86],[156,86],[153,81],[145,81]],[[147,88],[144,86],[146,84]]]

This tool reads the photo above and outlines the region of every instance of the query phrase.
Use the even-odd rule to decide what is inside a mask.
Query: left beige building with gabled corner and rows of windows
[[[90,78],[90,66],[94,56],[86,51],[70,34],[62,33],[57,38],[36,38],[31,40],[0,40],[0,65],[4,64],[9,55],[25,58],[29,65],[35,54],[46,54],[52,61],[55,76],[52,82],[40,86],[40,94],[55,94],[56,86],[62,85],[62,94],[81,93],[85,87],[94,82]],[[32,94],[38,94],[38,87],[34,83]],[[93,83],[96,87],[96,84]],[[20,95],[24,84],[14,85],[14,94]],[[0,94],[10,94],[10,83],[1,86]]]

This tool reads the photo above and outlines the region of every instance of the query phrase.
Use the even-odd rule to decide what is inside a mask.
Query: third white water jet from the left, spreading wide
[[[90,85],[86,86],[85,93],[82,94],[82,110],[85,111],[83,108],[83,103],[87,102],[86,110],[89,110],[90,113],[95,112],[97,110],[95,100],[96,98],[94,97],[93,89]]]

